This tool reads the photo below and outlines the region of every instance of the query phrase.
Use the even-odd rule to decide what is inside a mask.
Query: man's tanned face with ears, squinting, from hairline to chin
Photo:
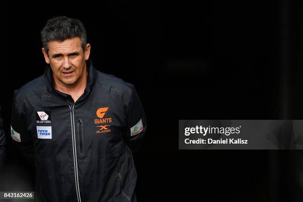
[[[42,49],[45,61],[50,64],[54,79],[65,87],[72,87],[86,76],[86,60],[90,55],[90,45],[82,49],[79,37],[63,42],[50,41],[48,53]]]

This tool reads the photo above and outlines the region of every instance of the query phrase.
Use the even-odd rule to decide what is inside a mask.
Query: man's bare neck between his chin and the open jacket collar
[[[78,81],[76,81],[72,85],[66,85],[61,81],[57,80],[54,76],[53,78],[54,78],[53,80],[54,80],[55,89],[62,93],[70,95],[73,98],[73,100],[76,102],[80,98],[80,96],[82,96],[82,94],[84,93],[84,90],[87,85],[86,65],[83,69],[82,76],[79,78]]]

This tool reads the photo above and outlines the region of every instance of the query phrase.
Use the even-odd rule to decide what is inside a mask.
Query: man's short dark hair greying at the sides
[[[87,36],[83,23],[78,19],[66,16],[56,16],[49,19],[41,31],[41,41],[46,52],[49,52],[48,43],[50,41],[62,42],[74,37],[80,38],[84,51],[87,44]]]

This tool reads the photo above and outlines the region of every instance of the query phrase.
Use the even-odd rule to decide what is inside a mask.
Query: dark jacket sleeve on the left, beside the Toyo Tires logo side
[[[15,92],[16,94],[16,92]],[[26,110],[23,101],[13,99],[11,111],[10,135],[14,146],[21,152],[23,157],[34,166],[34,146],[30,133],[26,129]]]

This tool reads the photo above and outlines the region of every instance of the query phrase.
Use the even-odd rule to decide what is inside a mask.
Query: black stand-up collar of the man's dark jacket
[[[93,62],[89,59],[86,61],[86,69],[88,72],[87,84],[84,90],[84,97],[86,97],[93,89],[97,80],[97,70],[95,69]],[[46,85],[42,90],[42,105],[45,106],[62,106],[73,104],[70,95],[61,93],[54,88],[53,76],[50,65],[47,65],[44,73]]]

